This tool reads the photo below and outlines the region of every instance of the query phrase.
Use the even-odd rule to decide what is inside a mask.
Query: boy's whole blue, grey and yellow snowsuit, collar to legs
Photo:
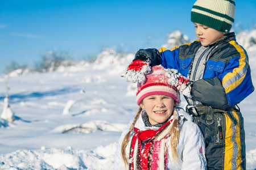
[[[254,87],[247,53],[234,33],[208,46],[196,40],[159,52],[160,64],[194,81],[186,109],[204,135],[208,169],[246,169],[243,117],[235,105]]]

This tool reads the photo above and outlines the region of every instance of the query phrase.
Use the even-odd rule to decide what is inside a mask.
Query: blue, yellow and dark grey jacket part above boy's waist
[[[160,48],[160,64],[189,76],[199,40],[167,50]],[[192,96],[213,108],[226,110],[240,103],[254,91],[249,58],[238,45],[234,32],[209,45],[213,50],[205,63],[203,79],[193,83]]]

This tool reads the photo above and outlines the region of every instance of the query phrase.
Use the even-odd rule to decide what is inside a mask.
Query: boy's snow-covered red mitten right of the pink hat
[[[175,69],[166,69],[166,76],[168,79],[168,83],[171,86],[175,86],[184,96],[191,97],[191,86],[193,82],[189,81],[188,78],[181,75]]]

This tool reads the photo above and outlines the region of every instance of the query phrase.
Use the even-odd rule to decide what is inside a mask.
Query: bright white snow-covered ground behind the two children
[[[256,48],[248,54],[255,85]],[[8,81],[15,121],[0,121],[0,169],[113,169],[118,138],[138,109],[135,87],[119,76],[133,57],[106,49],[94,63],[1,76],[0,113]],[[255,93],[239,106],[247,169],[256,169]]]

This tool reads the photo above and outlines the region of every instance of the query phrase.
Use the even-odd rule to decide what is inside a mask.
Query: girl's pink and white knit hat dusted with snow
[[[146,74],[146,80],[142,83],[138,83],[137,88],[137,104],[151,95],[166,95],[172,97],[176,101],[176,104],[180,104],[180,93],[175,86],[171,86],[168,83],[166,76],[166,69],[162,66],[154,66],[149,74]]]

